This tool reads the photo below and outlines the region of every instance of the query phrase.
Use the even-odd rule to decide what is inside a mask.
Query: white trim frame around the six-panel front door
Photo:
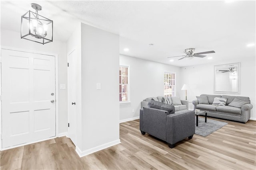
[[[21,51],[21,52],[25,52],[25,53],[35,53],[35,54],[41,54],[41,55],[50,55],[50,56],[54,56],[55,58],[55,113],[56,113],[56,120],[55,120],[55,136],[54,137],[50,137],[50,138],[46,138],[46,139],[41,139],[39,141],[33,141],[33,142],[29,142],[29,143],[24,143],[24,144],[20,144],[20,145],[15,145],[12,147],[7,147],[7,148],[2,148],[2,102],[0,105],[0,150],[6,150],[6,149],[11,149],[11,148],[16,148],[16,147],[20,147],[20,146],[24,146],[24,145],[28,145],[31,143],[36,143],[36,142],[40,142],[40,141],[46,141],[49,139],[54,139],[56,137],[58,137],[58,133],[59,133],[59,91],[58,91],[58,87],[59,87],[59,83],[58,83],[58,54],[54,54],[54,53],[46,53],[46,52],[42,52],[42,51],[32,51],[32,50],[28,50],[28,49],[19,49],[19,48],[14,48],[14,47],[7,47],[7,46],[1,46],[0,50],[2,51],[2,49],[6,49],[6,50],[12,50],[12,51]],[[1,73],[1,66],[0,66],[0,73]],[[2,94],[2,77],[0,74],[0,94]]]

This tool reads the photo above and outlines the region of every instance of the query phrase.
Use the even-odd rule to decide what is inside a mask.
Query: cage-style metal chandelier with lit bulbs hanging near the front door
[[[20,37],[41,44],[52,42],[53,21],[38,14],[40,5],[32,3],[31,7],[36,12],[29,10],[21,16]]]

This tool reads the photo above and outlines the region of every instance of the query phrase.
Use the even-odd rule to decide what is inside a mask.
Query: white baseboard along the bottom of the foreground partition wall
[[[86,155],[88,155],[88,154],[92,154],[92,153],[97,152],[97,151],[99,151],[99,150],[106,149],[106,148],[108,148],[108,147],[112,147],[112,146],[117,145],[117,144],[119,144],[119,143],[121,143],[121,142],[120,142],[120,139],[118,139],[118,140],[116,140],[116,141],[109,142],[109,143],[105,143],[105,144],[100,145],[100,146],[98,146],[98,147],[94,147],[94,148],[87,149],[87,150],[84,150],[84,151],[80,150],[80,149],[76,146],[76,153],[77,153],[78,156],[80,156],[80,158],[81,158],[82,156],[86,156]]]

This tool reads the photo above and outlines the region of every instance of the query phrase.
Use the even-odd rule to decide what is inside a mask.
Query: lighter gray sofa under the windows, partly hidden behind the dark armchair
[[[166,100],[168,100],[170,103],[167,103],[167,102],[166,103],[173,105],[175,108],[175,111],[188,109],[188,101],[187,100],[180,100],[179,97],[164,97],[164,96],[146,98],[142,102],[140,102],[140,108],[148,107],[148,102],[152,99],[155,101],[158,101],[158,102],[166,102]],[[166,99],[166,100],[163,101],[163,99]],[[180,102],[181,102],[180,104],[179,104],[178,100],[180,100]]]

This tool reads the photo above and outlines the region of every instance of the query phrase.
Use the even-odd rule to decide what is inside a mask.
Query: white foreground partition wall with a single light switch
[[[82,23],[82,155],[120,143],[119,36]],[[101,89],[96,89],[101,83]]]

